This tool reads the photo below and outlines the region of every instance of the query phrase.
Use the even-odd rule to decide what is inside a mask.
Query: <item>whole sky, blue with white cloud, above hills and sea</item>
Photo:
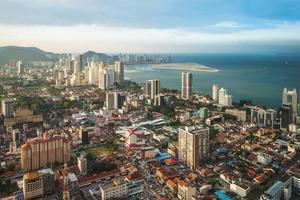
[[[0,46],[81,53],[297,53],[300,0],[0,0]]]

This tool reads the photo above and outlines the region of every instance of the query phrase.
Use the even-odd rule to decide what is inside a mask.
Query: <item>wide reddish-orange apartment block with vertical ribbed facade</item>
[[[55,162],[70,160],[70,141],[60,135],[28,140],[21,146],[21,166],[23,171],[32,171]]]

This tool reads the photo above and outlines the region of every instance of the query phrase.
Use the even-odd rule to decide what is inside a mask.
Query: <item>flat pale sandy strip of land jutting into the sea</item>
[[[163,63],[152,65],[153,69],[174,69],[198,72],[218,72],[218,69],[201,65],[198,63]]]

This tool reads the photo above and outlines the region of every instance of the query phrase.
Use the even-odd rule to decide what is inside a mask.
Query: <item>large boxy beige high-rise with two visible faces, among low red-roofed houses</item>
[[[179,161],[195,168],[200,160],[209,156],[209,129],[185,127],[178,129]]]

